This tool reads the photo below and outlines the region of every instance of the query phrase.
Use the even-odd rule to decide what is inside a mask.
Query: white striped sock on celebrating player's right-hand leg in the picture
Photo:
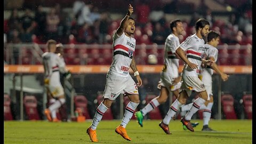
[[[135,103],[130,101],[126,108],[125,108],[125,112],[124,112],[124,117],[122,119],[121,125],[125,128],[126,125],[129,123],[130,119],[132,118],[132,115],[135,112],[135,109],[137,108],[137,106],[139,105],[139,103]]]

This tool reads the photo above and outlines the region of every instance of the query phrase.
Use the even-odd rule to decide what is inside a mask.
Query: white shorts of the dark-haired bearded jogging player
[[[182,84],[180,92],[185,90],[188,97],[192,91],[203,92],[205,91],[204,83],[198,78],[198,76],[184,76],[182,75]]]

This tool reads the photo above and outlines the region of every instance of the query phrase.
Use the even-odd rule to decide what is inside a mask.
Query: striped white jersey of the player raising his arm
[[[126,36],[123,33],[118,36],[116,33],[113,36],[113,62],[108,70],[109,74],[127,77],[132,57],[135,51],[136,40],[133,37]]]

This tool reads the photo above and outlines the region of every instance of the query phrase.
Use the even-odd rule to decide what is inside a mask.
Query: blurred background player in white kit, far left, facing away
[[[48,52],[42,55],[44,66],[44,84],[47,90],[50,103],[49,108],[44,110],[47,119],[52,122],[59,122],[56,111],[63,105],[65,100],[64,90],[60,83],[60,72],[68,73],[66,63],[59,57],[56,51],[56,41],[47,41]]]

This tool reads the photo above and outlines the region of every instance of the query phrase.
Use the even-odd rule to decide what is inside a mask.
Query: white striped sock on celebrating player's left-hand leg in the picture
[[[92,130],[96,130],[99,122],[101,121],[102,116],[105,114],[105,112],[108,110],[108,107],[106,107],[102,102],[100,103],[100,105],[98,106],[98,108],[96,109],[96,113],[94,115],[92,124],[91,124],[91,128]]]

